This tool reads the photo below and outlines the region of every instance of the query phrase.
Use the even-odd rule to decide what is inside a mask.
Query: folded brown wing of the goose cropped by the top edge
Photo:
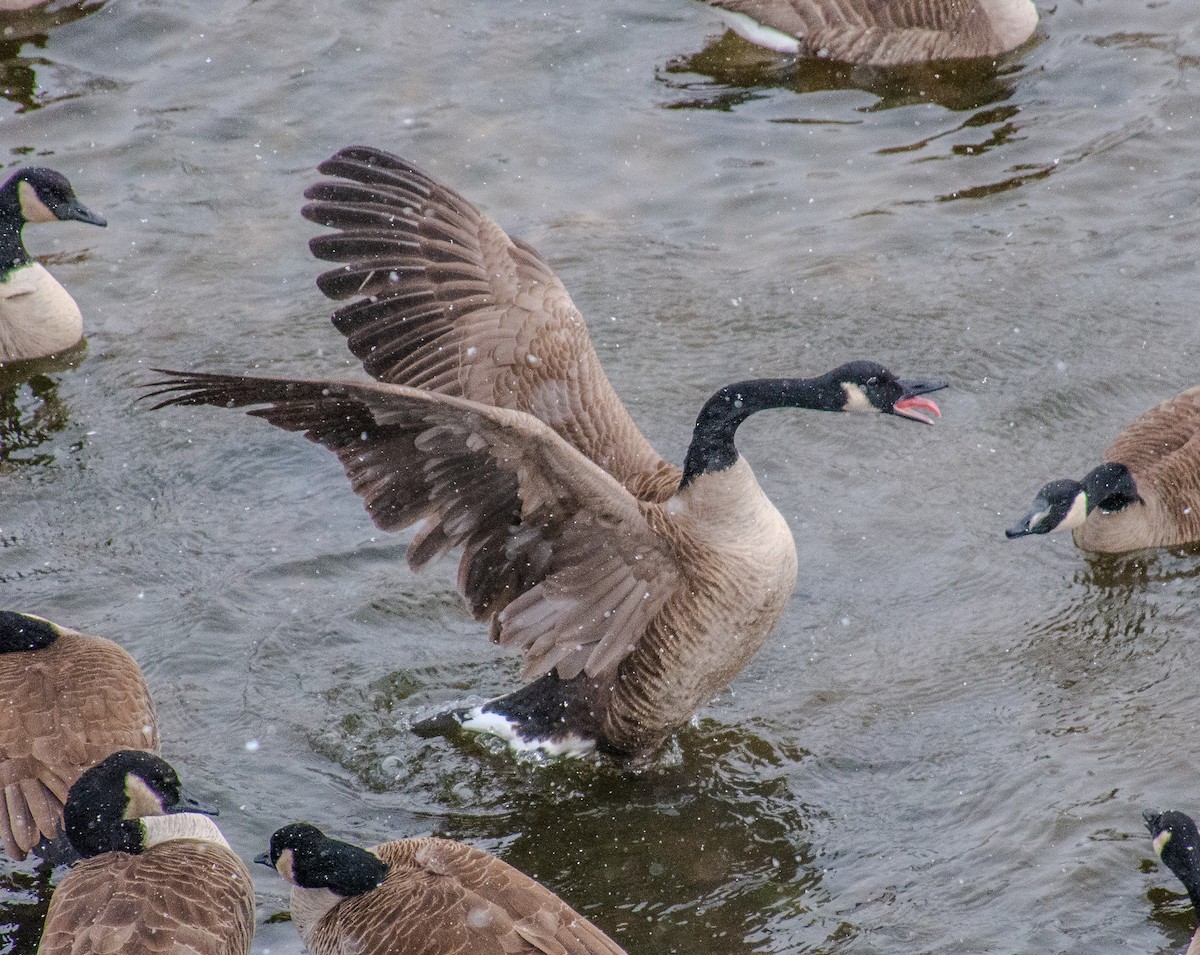
[[[803,41],[808,55],[889,64],[984,56],[1003,44],[978,0],[712,0]]]

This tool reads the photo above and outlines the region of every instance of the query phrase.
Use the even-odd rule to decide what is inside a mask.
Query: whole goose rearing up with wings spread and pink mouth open
[[[566,289],[528,245],[406,161],[352,146],[307,191],[349,265],[318,286],[365,295],[334,316],[386,384],[166,372],[156,407],[254,407],[337,454],[384,530],[425,519],[421,567],[462,546],[458,591],[534,683],[419,728],[462,723],[516,746],[640,757],[725,686],[782,613],[796,545],[740,457],[769,408],[882,412],[932,424],[925,392],[853,361],[817,378],[739,382],[696,420],[680,470],[620,403]]]

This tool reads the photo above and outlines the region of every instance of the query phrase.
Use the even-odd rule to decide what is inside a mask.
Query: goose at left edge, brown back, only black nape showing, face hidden
[[[14,859],[62,833],[72,783],[115,750],[157,750],[154,703],[125,650],[0,611],[0,842]],[[41,849],[40,849],[41,851]]]

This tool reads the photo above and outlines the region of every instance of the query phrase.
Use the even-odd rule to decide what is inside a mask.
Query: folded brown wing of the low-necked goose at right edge
[[[1129,468],[1141,491],[1200,503],[1200,386],[1129,424],[1104,460]]]

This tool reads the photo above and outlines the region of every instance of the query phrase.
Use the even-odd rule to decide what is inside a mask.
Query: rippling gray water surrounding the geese
[[[131,650],[247,859],[301,818],[462,839],[631,955],[1178,951],[1194,917],[1140,810],[1200,811],[1200,554],[1002,530],[1200,382],[1198,10],[1039,8],[995,68],[893,72],[792,64],[692,0],[8,20],[2,163],[66,173],[109,228],[26,233],[88,346],[6,398],[0,603]],[[412,573],[298,436],[137,402],[154,367],[361,374],[299,216],[350,143],[536,246],[670,460],[737,378],[953,383],[935,428],[743,428],[800,582],[646,771],[412,735],[518,679],[452,560]],[[31,872],[0,863],[0,950],[32,950]],[[299,953],[256,878],[256,951]]]

